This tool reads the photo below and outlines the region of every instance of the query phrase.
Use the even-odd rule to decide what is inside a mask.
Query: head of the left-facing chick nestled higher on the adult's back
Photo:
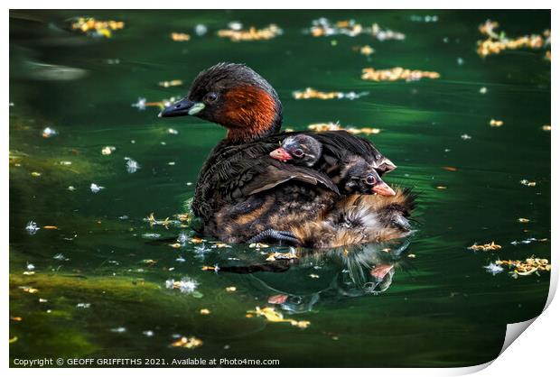
[[[321,158],[321,152],[322,145],[313,136],[296,134],[286,137],[280,148],[270,152],[270,157],[311,168]]]

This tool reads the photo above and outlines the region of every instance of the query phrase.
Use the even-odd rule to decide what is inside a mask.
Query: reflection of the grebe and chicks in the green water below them
[[[410,237],[383,244],[362,244],[331,250],[272,247],[260,253],[209,253],[204,262],[212,273],[253,274],[268,293],[262,305],[276,305],[291,313],[312,311],[323,297],[378,295],[388,290],[395,274],[406,270]],[[294,253],[297,258],[262,262],[267,254]],[[288,274],[277,279],[276,274]],[[314,280],[313,284],[303,279]],[[303,285],[308,287],[303,287]],[[311,290],[310,287],[313,287]]]

